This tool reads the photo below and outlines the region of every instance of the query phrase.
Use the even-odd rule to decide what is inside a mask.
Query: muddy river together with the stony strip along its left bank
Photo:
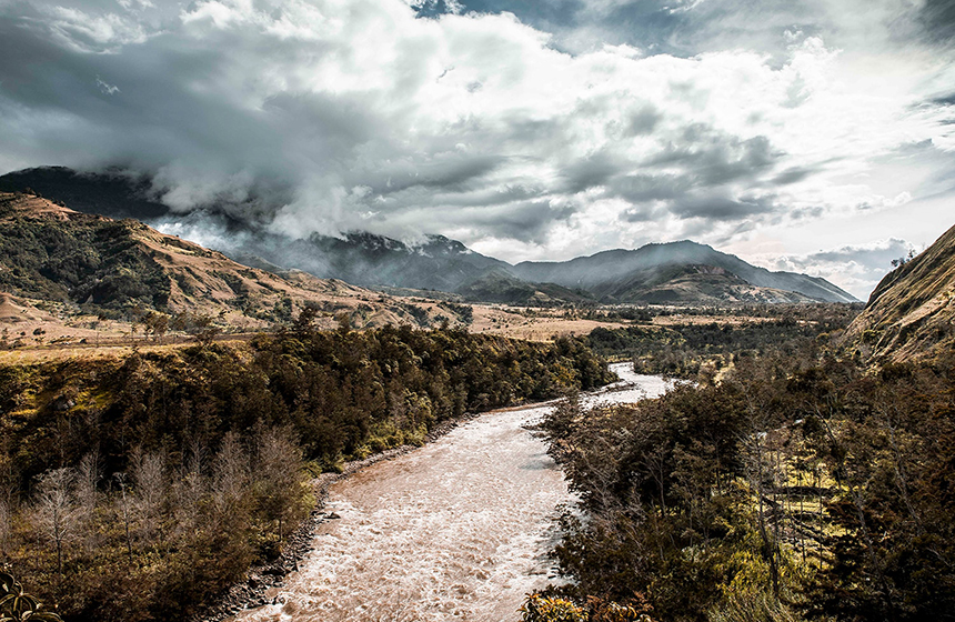
[[[665,384],[654,377],[636,377],[625,364],[613,367],[619,375],[627,378],[585,395],[586,402],[639,400],[647,394],[647,389],[639,385],[640,380],[651,382],[650,392],[654,394]],[[375,600],[375,584],[381,585],[382,593],[372,608],[392,611],[386,608],[432,603],[422,604],[423,611],[414,605],[412,609],[418,609],[413,612],[395,613],[390,618],[394,620],[443,620],[449,615],[474,620],[481,619],[474,618],[475,608],[489,606],[499,616],[513,613],[527,589],[547,580],[549,562],[542,559],[547,546],[542,538],[553,535],[545,532],[553,522],[554,509],[570,500],[563,473],[546,455],[543,443],[526,430],[530,421],[542,417],[555,402],[448,421],[433,430],[421,448],[396,448],[349,463],[341,474],[323,475],[314,482],[319,503],[282,558],[254,569],[215,609],[197,620],[218,622],[235,614],[243,621],[288,620],[290,615],[292,620],[371,620],[373,614],[364,613],[361,599]],[[453,431],[455,438],[448,439]],[[441,443],[434,443],[439,439]],[[401,460],[394,462],[395,459]],[[509,460],[513,462],[510,465]],[[385,461],[390,462],[388,468],[370,470]],[[335,484],[341,485],[335,486],[338,493],[330,503]],[[348,490],[342,491],[342,486]],[[513,504],[540,499],[523,509],[522,514],[530,516],[524,523],[502,528],[511,508],[506,503],[496,508],[495,503],[497,496],[509,492]],[[341,522],[340,513],[344,514]],[[382,532],[396,535],[383,536]],[[471,542],[464,550],[454,551],[461,546],[462,538],[469,540],[468,533]],[[332,548],[323,558],[313,553],[321,545]],[[442,559],[435,560],[435,552]],[[415,562],[415,555],[421,561]],[[455,555],[463,555],[464,561]],[[373,571],[369,571],[370,565],[375,566]],[[363,572],[372,574],[355,579],[355,584],[369,585],[372,593],[355,600],[352,590],[335,586],[346,582],[344,578]],[[313,576],[306,576],[309,573]],[[471,574],[484,579],[472,581],[468,579]],[[506,598],[501,599],[503,604],[496,602],[501,594],[485,593],[483,583],[506,592]],[[356,589],[361,594],[362,590]],[[320,593],[312,594],[313,590]],[[355,616],[345,601],[348,606],[360,610]],[[395,604],[398,601],[401,603]]]

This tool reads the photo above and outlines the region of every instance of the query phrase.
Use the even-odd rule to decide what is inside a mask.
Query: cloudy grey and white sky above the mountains
[[[0,172],[505,259],[692,239],[860,298],[955,224],[951,0],[0,0]]]

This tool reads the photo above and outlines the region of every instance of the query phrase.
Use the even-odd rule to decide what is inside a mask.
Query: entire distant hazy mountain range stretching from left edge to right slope
[[[368,232],[296,240],[271,232],[268,223],[230,215],[228,203],[214,211],[175,214],[150,198],[148,179],[119,169],[77,173],[40,168],[0,177],[0,191],[28,189],[81,212],[144,220],[240,263],[273,272],[299,269],[356,285],[430,289],[456,292],[469,300],[542,304],[585,300],[676,304],[856,301],[824,279],[771,272],[692,241],[512,265],[442,235],[415,243]]]

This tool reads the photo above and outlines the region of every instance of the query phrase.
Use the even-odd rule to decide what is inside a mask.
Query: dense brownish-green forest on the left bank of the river
[[[274,558],[314,474],[611,380],[581,340],[293,329],[0,368],[0,552],[71,620],[184,620]]]

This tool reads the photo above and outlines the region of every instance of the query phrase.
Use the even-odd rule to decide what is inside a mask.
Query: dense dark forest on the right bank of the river
[[[806,339],[545,423],[581,496],[540,621],[955,619],[955,355],[865,369]]]

